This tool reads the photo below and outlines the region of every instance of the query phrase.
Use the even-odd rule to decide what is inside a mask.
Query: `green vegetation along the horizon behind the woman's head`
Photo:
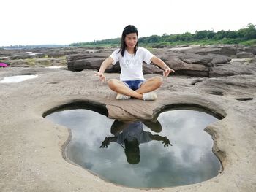
[[[94,42],[73,43],[69,46],[79,47],[113,47],[120,45],[121,38],[105,39]],[[238,31],[195,31],[195,34],[186,32],[184,34],[163,34],[162,36],[152,35],[140,37],[141,46],[156,47],[161,45],[214,45],[214,44],[241,44],[256,45],[256,28],[249,23],[246,28]]]

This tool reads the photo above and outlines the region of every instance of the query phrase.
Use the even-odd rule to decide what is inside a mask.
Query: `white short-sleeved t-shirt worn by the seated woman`
[[[138,47],[136,55],[130,54],[127,50],[124,51],[124,57],[121,56],[120,49],[115,50],[110,57],[113,58],[113,65],[119,61],[121,67],[120,80],[145,80],[143,77],[143,61],[146,64],[151,63],[151,58],[154,57],[152,53],[143,47]]]

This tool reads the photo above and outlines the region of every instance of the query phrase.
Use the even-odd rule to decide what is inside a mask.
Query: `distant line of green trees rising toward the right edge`
[[[256,39],[255,25],[249,23],[246,28],[241,28],[238,31],[217,31],[203,30],[195,31],[195,34],[186,32],[184,34],[163,34],[151,35],[150,37],[140,37],[140,44],[172,44],[175,42],[200,42],[200,41],[219,41],[227,44],[237,44],[248,40]],[[90,45],[119,45],[121,38],[105,39],[94,42],[79,42],[69,46],[90,46]]]

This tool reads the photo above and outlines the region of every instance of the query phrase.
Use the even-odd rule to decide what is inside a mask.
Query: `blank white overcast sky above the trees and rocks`
[[[0,46],[112,39],[127,25],[139,37],[256,25],[254,0],[1,0],[0,7]]]

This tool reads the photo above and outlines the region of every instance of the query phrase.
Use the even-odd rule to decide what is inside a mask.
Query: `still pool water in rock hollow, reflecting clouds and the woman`
[[[67,158],[104,180],[139,188],[199,183],[221,164],[203,131],[217,118],[195,110],[162,112],[157,121],[118,121],[91,110],[46,116],[72,130]]]

